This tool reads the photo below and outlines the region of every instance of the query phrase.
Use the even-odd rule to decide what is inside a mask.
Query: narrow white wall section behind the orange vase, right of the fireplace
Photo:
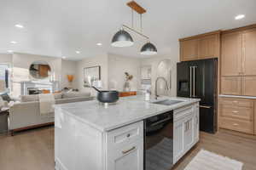
[[[62,60],[61,62],[61,88],[78,88],[77,61]],[[73,75],[72,83],[67,81],[67,75]]]

